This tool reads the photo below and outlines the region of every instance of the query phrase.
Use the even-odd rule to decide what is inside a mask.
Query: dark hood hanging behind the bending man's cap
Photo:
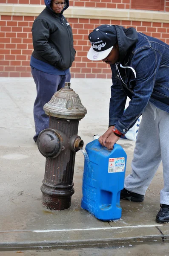
[[[120,63],[123,62],[127,51],[137,42],[138,35],[135,28],[125,29],[123,26],[115,25],[117,42],[120,52]]]

